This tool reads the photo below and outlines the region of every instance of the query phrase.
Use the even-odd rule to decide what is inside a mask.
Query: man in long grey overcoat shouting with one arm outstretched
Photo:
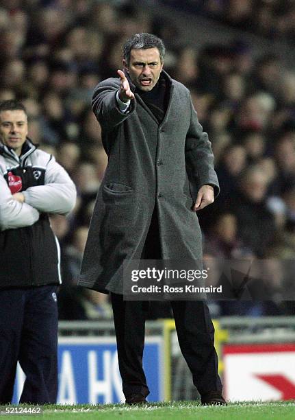
[[[207,134],[190,92],[163,70],[165,47],[151,34],[125,43],[124,71],[99,83],[92,108],[109,158],[94,207],[79,285],[111,294],[127,404],[146,401],[145,310],[123,299],[123,263],[202,258],[196,211],[219,191]],[[225,404],[207,303],[171,301],[179,345],[202,404]]]

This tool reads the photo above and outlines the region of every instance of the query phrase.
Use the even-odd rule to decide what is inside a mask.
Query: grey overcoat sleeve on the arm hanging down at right
[[[203,185],[214,187],[214,196],[219,194],[219,183],[214,170],[214,156],[206,132],[198,122],[196,110],[190,99],[190,128],[185,139],[185,163],[194,196]]]

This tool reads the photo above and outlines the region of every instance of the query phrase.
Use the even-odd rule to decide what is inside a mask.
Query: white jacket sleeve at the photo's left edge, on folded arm
[[[5,178],[0,174],[0,231],[31,226],[39,219],[39,211],[12,198]]]

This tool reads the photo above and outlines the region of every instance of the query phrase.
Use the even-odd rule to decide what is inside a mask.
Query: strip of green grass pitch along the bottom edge
[[[25,406],[18,406],[24,407]],[[171,401],[143,406],[106,404],[92,406],[43,406],[42,415],[5,415],[3,418],[22,419],[238,419],[238,420],[294,420],[295,401],[242,402],[227,406],[201,406],[198,401]]]

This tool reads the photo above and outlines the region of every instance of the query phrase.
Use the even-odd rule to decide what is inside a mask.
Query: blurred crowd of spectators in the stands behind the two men
[[[295,253],[295,69],[272,54],[254,56],[245,39],[201,49],[196,39],[196,45],[180,47],[179,27],[136,3],[0,1],[0,100],[23,101],[29,137],[53,154],[77,185],[75,211],[66,219],[51,218],[62,246],[60,318],[107,318],[112,313],[107,295],[75,287],[107,165],[90,104],[94,86],[116,77],[122,68],[123,42],[136,32],[164,39],[165,69],[188,86],[198,119],[209,133],[222,192],[214,205],[199,213],[205,257],[264,259],[270,272],[275,302],[214,302],[214,316],[294,313],[277,285],[286,281],[287,287],[292,281],[282,275],[282,261],[294,259]],[[288,27],[285,36],[294,37],[292,1],[187,3],[230,25],[234,14],[227,14],[229,5],[239,3],[249,10],[259,3],[263,14],[284,4],[280,16],[290,25],[276,25],[273,34],[283,36],[279,28]],[[151,310],[151,318],[167,314],[165,305]]]

